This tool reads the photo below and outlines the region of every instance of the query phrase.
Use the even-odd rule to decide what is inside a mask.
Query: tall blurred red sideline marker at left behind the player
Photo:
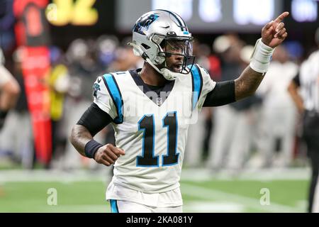
[[[50,123],[50,90],[47,77],[50,55],[44,8],[47,0],[16,0],[13,11],[17,18],[16,38],[23,45],[22,72],[26,86],[28,109],[33,123],[35,155],[47,165],[52,154]]]

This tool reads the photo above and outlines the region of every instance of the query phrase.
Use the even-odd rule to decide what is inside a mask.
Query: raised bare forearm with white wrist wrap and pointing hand
[[[262,28],[262,39],[255,46],[250,66],[235,79],[236,101],[256,92],[267,72],[274,48],[280,45],[288,35],[284,23],[281,22],[288,15],[288,12],[281,13],[276,20],[270,21]]]

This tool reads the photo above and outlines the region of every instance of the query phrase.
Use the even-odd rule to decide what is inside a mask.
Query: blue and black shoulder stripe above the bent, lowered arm
[[[114,123],[123,123],[123,99],[120,89],[118,88],[118,83],[114,78],[113,74],[104,74],[103,82],[108,89],[114,105],[116,106],[116,113],[118,116],[113,119]]]

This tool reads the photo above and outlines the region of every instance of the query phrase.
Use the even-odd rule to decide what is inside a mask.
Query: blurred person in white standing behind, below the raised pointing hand
[[[268,72],[257,89],[263,98],[259,152],[262,167],[287,167],[293,160],[296,108],[287,87],[298,72],[284,45],[276,48]]]

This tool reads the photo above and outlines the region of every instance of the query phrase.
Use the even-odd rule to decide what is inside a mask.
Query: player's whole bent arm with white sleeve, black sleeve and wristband
[[[116,117],[116,111],[110,94],[101,77],[94,83],[94,103],[84,112],[77,124],[72,128],[70,142],[77,151],[91,157],[96,162],[109,166],[116,162],[124,150],[108,143],[101,145],[93,139],[105,126]],[[113,117],[112,117],[113,116]]]

